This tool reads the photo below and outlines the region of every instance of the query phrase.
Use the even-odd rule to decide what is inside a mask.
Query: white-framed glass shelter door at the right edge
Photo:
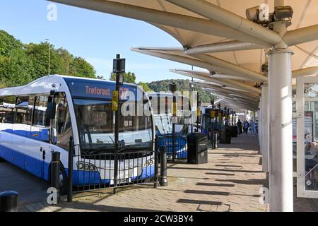
[[[318,198],[318,78],[298,78],[296,96],[298,197]]]

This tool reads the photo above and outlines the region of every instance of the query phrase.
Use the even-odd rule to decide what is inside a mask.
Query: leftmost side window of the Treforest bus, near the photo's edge
[[[16,105],[16,96],[7,96],[4,97],[4,123],[2,124],[2,130],[8,133],[13,132],[13,120],[14,120],[14,112],[13,109]]]

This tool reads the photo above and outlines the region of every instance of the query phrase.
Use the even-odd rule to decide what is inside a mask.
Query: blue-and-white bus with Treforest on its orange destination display
[[[114,184],[113,90],[111,81],[59,75],[1,89],[0,157],[49,181],[52,153],[59,152],[60,189],[66,191],[69,140],[73,137],[73,185]],[[119,116],[119,152],[124,159],[119,157],[117,182],[134,182],[154,174],[151,104],[138,85],[124,83],[119,108],[129,107],[138,114]],[[134,152],[142,154],[131,154]]]

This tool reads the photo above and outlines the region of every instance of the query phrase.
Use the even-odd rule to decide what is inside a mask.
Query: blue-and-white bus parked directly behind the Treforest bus
[[[177,121],[175,122],[175,158],[187,158],[187,135],[194,116],[189,97],[175,95],[177,100]],[[167,147],[167,158],[172,159],[172,93],[148,93],[155,118],[155,132],[159,147]],[[195,116],[194,116],[195,117]]]

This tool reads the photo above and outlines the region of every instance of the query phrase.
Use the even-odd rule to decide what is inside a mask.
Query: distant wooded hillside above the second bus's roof
[[[149,88],[155,92],[167,92],[169,91],[169,85],[175,82],[177,84],[177,91],[191,91],[191,83],[188,79],[177,80],[163,80],[147,83]],[[193,90],[199,93],[199,100],[203,103],[211,102],[211,94],[203,90],[199,85],[194,85]]]

